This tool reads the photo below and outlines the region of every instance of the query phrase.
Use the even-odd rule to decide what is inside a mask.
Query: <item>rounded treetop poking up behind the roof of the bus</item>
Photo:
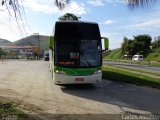
[[[58,19],[59,20],[75,20],[75,21],[78,21],[78,17],[76,15],[72,14],[72,13],[66,13]]]

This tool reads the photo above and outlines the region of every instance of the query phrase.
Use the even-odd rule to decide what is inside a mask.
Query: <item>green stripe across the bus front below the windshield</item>
[[[54,66],[54,71],[63,71],[66,75],[71,76],[87,76],[87,75],[93,75],[95,71],[101,70],[101,67],[96,68],[64,68],[64,67],[58,67]]]

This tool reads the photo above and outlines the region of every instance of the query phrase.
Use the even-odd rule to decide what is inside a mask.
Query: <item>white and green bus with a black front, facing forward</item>
[[[108,49],[108,39],[103,40]],[[97,23],[57,21],[49,47],[50,71],[55,84],[102,81],[102,37]]]

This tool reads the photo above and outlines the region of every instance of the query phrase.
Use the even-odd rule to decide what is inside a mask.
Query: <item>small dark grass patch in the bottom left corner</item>
[[[0,120],[28,120],[29,117],[19,110],[15,103],[0,101]]]

